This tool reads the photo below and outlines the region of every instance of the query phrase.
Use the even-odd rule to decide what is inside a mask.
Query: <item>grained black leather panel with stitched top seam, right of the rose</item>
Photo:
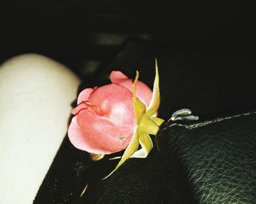
[[[186,203],[256,203],[256,113],[194,125],[167,122],[157,146],[173,168],[173,185],[187,180],[194,198]]]

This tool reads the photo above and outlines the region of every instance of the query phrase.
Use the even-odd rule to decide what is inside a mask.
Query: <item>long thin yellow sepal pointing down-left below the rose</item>
[[[132,140],[129,142],[129,145],[127,146],[127,149],[125,149],[123,156],[121,157],[121,160],[118,162],[118,165],[116,165],[116,168],[108,174],[105,178],[108,178],[112,173],[114,173],[126,160],[129,159],[129,157],[132,156],[136,152],[136,150],[139,147],[139,135],[138,135],[138,128],[135,128],[135,131],[132,136]],[[103,180],[105,179],[103,178]]]

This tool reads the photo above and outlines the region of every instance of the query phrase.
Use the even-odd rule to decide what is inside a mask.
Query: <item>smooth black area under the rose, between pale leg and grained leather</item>
[[[65,139],[34,204],[169,203],[173,197],[170,179],[158,153],[155,148],[145,160],[128,160],[102,181],[115,168],[118,160],[108,160],[115,155],[92,162],[88,153],[75,149]],[[81,196],[86,184],[89,186]]]

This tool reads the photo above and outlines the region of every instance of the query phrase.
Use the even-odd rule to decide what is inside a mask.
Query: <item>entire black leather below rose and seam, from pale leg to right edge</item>
[[[162,155],[128,160],[103,181],[115,162],[90,162],[64,141],[34,203],[255,203],[255,124],[256,114],[167,122],[157,135]]]

